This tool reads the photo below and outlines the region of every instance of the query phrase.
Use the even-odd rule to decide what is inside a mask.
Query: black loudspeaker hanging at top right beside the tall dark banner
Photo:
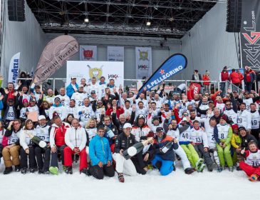
[[[240,32],[242,0],[227,1],[227,32]]]

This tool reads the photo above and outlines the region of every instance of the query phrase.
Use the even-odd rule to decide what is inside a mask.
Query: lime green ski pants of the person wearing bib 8
[[[219,162],[222,167],[225,166],[225,160],[227,161],[227,166],[229,167],[233,166],[230,148],[231,148],[230,144],[225,146],[225,148],[222,148],[221,146],[219,146],[219,144],[217,144],[217,154],[219,155]]]

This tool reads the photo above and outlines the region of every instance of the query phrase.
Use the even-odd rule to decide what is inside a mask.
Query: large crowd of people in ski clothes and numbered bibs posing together
[[[116,87],[113,79],[81,79],[78,85],[71,77],[54,95],[35,84],[9,83],[0,89],[4,174],[73,174],[73,162],[79,161],[81,174],[103,179],[116,172],[124,182],[124,174],[152,169],[166,176],[180,160],[185,174],[236,169],[251,181],[260,179],[256,92],[206,91],[187,99],[180,89],[165,93],[164,86],[138,94]],[[31,136],[48,145],[39,146]],[[127,158],[125,151],[142,141],[142,151]]]

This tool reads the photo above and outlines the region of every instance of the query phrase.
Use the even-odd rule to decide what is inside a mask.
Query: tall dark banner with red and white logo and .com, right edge
[[[241,14],[241,66],[260,70],[260,1],[243,0]]]

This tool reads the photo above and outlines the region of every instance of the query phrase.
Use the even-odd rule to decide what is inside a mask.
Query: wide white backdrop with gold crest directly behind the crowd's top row
[[[115,86],[124,85],[124,63],[109,61],[67,61],[67,85],[71,83],[71,76],[77,77],[77,83],[85,78],[87,82],[95,76],[98,80],[101,76],[105,77],[105,82],[109,79],[115,80]]]

